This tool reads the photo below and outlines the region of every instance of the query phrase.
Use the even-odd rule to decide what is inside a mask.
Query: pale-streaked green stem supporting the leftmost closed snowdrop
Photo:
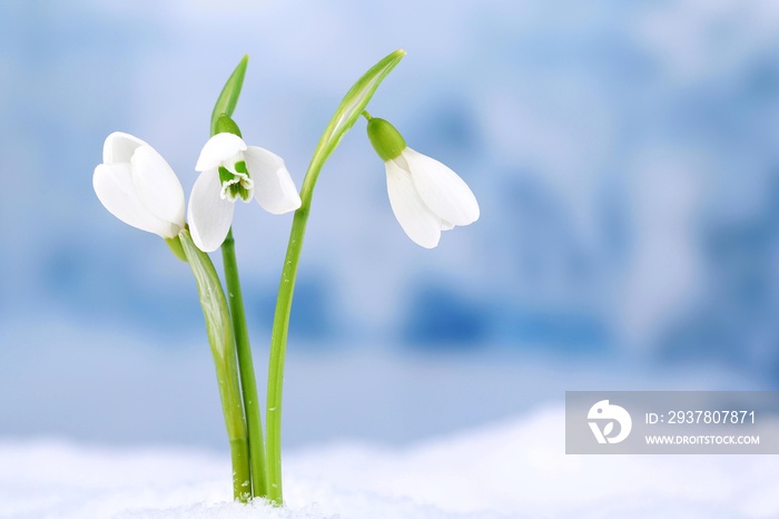
[[[252,494],[252,471],[249,467],[249,444],[244,415],[244,402],[236,360],[235,337],[230,325],[227,301],[221,290],[219,276],[208,255],[193,243],[188,231],[179,233],[181,248],[193,270],[197,291],[206,321],[206,334],[214,356],[216,379],[225,415],[227,439],[230,442],[233,460],[233,496],[245,502]]]

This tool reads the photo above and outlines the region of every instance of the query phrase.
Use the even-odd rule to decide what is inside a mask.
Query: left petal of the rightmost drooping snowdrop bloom
[[[395,218],[410,238],[425,248],[433,248],[441,239],[441,218],[422,202],[408,172],[394,161],[385,163],[387,193]]]

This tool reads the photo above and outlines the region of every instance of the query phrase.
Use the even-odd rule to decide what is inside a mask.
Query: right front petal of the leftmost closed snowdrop
[[[132,155],[132,185],[155,216],[184,227],[184,189],[167,161],[151,146]]]

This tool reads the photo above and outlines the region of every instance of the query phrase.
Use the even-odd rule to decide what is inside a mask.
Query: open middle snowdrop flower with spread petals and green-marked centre
[[[231,133],[216,134],[200,151],[189,196],[187,219],[195,245],[216,251],[233,224],[235,202],[256,198],[268,213],[278,215],[300,207],[300,196],[282,157]]]

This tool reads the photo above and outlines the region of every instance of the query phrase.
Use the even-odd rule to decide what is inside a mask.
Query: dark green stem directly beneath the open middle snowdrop
[[[240,291],[238,277],[238,263],[235,257],[235,239],[233,229],[227,233],[227,238],[221,244],[221,258],[225,268],[225,283],[227,284],[227,297],[230,304],[233,317],[233,331],[238,352],[238,370],[240,371],[240,389],[244,398],[244,409],[249,438],[249,460],[252,463],[252,497],[264,498],[267,494],[265,480],[265,445],[263,442],[263,420],[259,413],[259,399],[257,396],[257,379],[254,373],[252,360],[252,345],[249,344],[249,331],[246,325],[244,311],[244,297]]]

